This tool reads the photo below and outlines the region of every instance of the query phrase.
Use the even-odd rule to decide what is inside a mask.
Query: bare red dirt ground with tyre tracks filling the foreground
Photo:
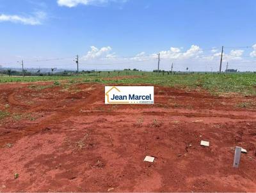
[[[256,191],[255,97],[155,86],[154,105],[105,105],[103,84],[49,84],[0,84],[0,192]]]

